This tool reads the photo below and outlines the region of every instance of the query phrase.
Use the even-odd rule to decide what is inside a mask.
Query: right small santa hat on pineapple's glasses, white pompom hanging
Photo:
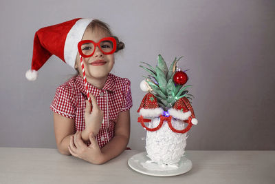
[[[192,105],[186,97],[182,97],[181,99],[177,100],[173,108],[170,108],[168,110],[168,113],[176,119],[181,120],[187,120],[189,116],[191,116],[191,123],[193,125],[197,125],[198,123],[194,111],[192,109]]]

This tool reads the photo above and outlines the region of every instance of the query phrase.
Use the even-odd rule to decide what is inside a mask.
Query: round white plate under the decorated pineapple
[[[159,170],[161,166],[157,165],[157,163],[146,162],[151,161],[146,155],[146,152],[135,154],[128,160],[128,165],[136,172],[150,176],[177,176],[190,171],[192,168],[192,162],[183,156],[179,161],[179,167],[177,167],[177,169],[175,169],[175,167],[162,166],[164,170]]]

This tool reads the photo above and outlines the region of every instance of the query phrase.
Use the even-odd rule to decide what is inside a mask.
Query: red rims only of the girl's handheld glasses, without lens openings
[[[100,42],[107,41],[107,40],[111,41],[113,43],[113,50],[111,50],[111,52],[104,52],[100,48]],[[84,43],[93,43],[94,44],[94,52],[96,51],[96,47],[98,47],[103,54],[113,54],[113,52],[115,52],[115,50],[116,50],[116,41],[113,37],[106,37],[106,38],[100,39],[100,41],[98,41],[98,43],[96,43],[92,40],[82,40],[82,41],[78,42],[78,52],[82,57],[91,57],[92,55],[94,55],[94,52],[91,53],[90,55],[83,54],[83,52],[81,50],[81,45],[83,45]]]

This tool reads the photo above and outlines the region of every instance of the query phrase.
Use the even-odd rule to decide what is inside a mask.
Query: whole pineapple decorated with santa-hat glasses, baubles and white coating
[[[147,130],[147,156],[159,165],[179,163],[184,156],[186,132],[197,124],[188,100],[192,97],[187,90],[190,85],[184,85],[188,76],[177,68],[179,59],[175,58],[169,69],[160,54],[155,68],[144,62],[146,66],[140,65],[148,72],[140,88],[148,93],[137,110],[137,121]]]

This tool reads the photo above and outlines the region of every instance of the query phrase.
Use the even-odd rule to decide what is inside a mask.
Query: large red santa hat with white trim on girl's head
[[[26,78],[29,81],[36,80],[37,71],[52,54],[74,68],[78,42],[92,20],[78,18],[38,30],[34,35],[32,69],[26,72]]]

